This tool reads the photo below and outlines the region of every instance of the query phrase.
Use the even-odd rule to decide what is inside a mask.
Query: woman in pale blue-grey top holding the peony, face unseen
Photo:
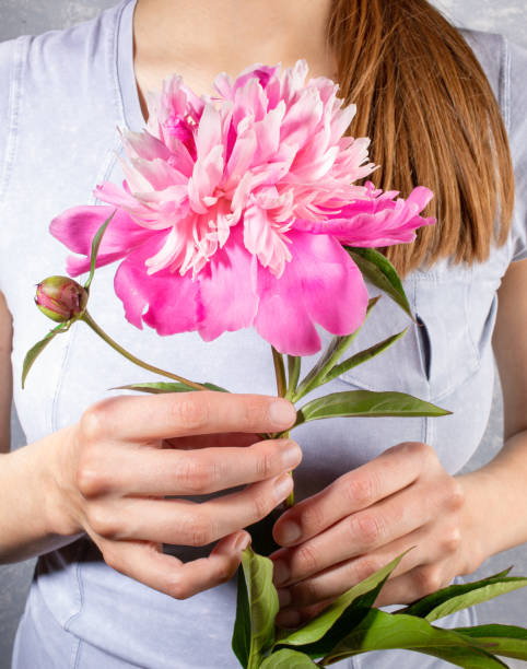
[[[302,502],[273,528],[284,626],[411,545],[378,606],[412,601],[527,538],[517,513],[526,503],[527,469],[527,128],[518,85],[527,57],[496,36],[466,37],[510,133],[518,177],[512,226],[513,174],[499,108],[462,38],[423,0],[180,0],[177,7],[124,0],[69,31],[0,45],[0,81],[9,91],[0,103],[0,197],[3,221],[15,222],[2,233],[0,287],[14,318],[15,382],[44,328],[31,286],[63,262],[49,221],[67,207],[93,203],[96,183],[122,178],[112,151],[119,149],[115,126],[140,130],[145,92],[173,72],[201,94],[219,71],[235,77],[251,62],[289,67],[303,57],[311,75],[338,80],[358,103],[352,132],[374,138],[382,185],[408,193],[419,183],[436,193],[435,228],[413,247],[389,251],[421,327],[378,362],[332,382],[330,391],[410,391],[454,414],[342,419],[294,433],[303,448],[295,474]],[[11,251],[19,248],[23,271]],[[114,271],[97,271],[91,296],[105,329],[139,357],[207,377],[233,395],[106,392],[148,376],[81,327],[57,338],[24,392],[14,384],[28,446],[2,456],[0,554],[40,558],[13,667],[235,667],[229,578],[249,540],[243,528],[286,497],[286,472],[302,457],[295,442],[256,434],[288,427],[294,411],[271,397],[270,354],[253,330],[207,344],[196,332],[138,336],[113,292]],[[358,338],[361,348],[408,325],[388,300],[382,303]],[[5,305],[2,318],[5,368]],[[482,469],[456,476],[487,423],[492,333],[504,446]],[[187,498],[244,484],[200,505]],[[172,555],[161,552],[162,543],[172,544]],[[465,611],[444,624],[475,620]],[[442,664],[390,652],[344,666]]]

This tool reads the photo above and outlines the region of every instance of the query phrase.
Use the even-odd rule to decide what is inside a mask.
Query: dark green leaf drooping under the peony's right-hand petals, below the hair
[[[356,246],[344,246],[363,277],[384,291],[398,304],[401,309],[414,321],[410,303],[406,296],[401,280],[391,262],[379,251],[373,248],[359,248]]]

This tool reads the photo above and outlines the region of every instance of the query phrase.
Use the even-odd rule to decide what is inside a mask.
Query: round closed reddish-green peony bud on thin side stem
[[[57,322],[66,322],[84,312],[87,291],[69,277],[48,277],[36,289],[35,304]]]

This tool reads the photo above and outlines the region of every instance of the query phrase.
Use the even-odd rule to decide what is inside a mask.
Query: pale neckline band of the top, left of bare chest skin
[[[130,130],[140,131],[147,126],[139,101],[133,70],[133,11],[137,0],[125,0],[117,16],[117,85],[122,104],[125,124]]]

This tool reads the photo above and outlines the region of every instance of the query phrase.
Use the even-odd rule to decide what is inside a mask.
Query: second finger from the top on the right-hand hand
[[[408,547],[408,536],[435,517],[436,506],[430,498],[434,494],[423,488],[410,485],[300,545],[276,551],[270,555],[276,585],[303,580],[333,564],[393,544],[399,538],[403,538]],[[423,500],[426,502],[417,503]]]

